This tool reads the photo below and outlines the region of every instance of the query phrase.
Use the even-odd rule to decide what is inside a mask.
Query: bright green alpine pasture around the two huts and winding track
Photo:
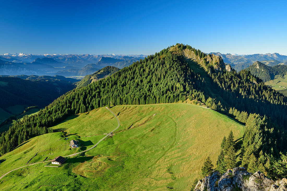
[[[210,109],[187,104],[115,106],[121,126],[85,156],[67,159],[59,168],[37,164],[14,171],[0,180],[5,190],[188,190],[210,155],[213,163],[224,135],[233,130],[242,137],[244,127]],[[154,115],[156,114],[156,115]],[[117,126],[105,108],[72,116],[54,127],[83,148],[69,149],[62,132],[30,139],[0,157],[0,174],[23,166],[36,152],[37,160],[75,153],[92,147]],[[49,153],[55,153],[50,155]],[[36,159],[35,161],[36,162]],[[57,185],[57,186],[44,186]],[[66,186],[61,186],[66,185]],[[25,189],[24,189],[25,190]]]

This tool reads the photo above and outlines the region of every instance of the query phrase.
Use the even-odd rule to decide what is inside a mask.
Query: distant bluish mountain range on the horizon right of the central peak
[[[224,63],[230,64],[232,68],[234,68],[236,71],[240,71],[249,67],[255,61],[262,62],[268,66],[275,66],[278,64],[286,65],[287,63],[287,56],[278,53],[238,55],[229,53],[221,54],[220,52],[210,52],[210,54],[221,56]]]

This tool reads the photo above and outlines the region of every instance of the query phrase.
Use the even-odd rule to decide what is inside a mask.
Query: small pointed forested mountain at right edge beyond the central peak
[[[264,82],[273,80],[275,75],[284,76],[287,74],[287,65],[276,65],[273,67],[266,66],[265,64],[256,61],[253,65],[249,66],[245,70],[256,77],[259,77]]]

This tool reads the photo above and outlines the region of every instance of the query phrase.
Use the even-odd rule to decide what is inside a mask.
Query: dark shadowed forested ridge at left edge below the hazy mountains
[[[0,77],[0,108],[14,105],[44,107],[60,95],[75,88],[72,82],[59,79],[61,77],[22,76]]]

